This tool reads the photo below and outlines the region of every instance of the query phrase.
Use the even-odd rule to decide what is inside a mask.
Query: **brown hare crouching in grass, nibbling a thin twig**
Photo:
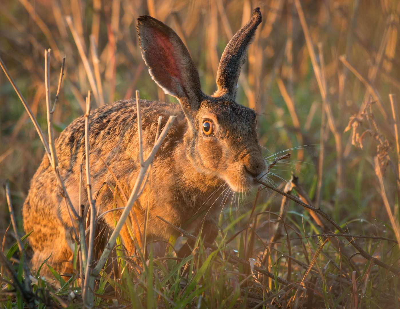
[[[177,118],[154,159],[151,189],[149,186],[144,189],[132,209],[138,220],[138,225],[134,224],[136,237],[138,232],[143,233],[149,203],[149,241],[168,240],[173,232],[156,215],[177,226],[197,215],[189,228],[199,231],[203,226],[205,240],[213,242],[218,234],[216,219],[226,200],[235,192],[258,185],[255,179],[264,179],[267,166],[258,144],[256,113],[235,102],[240,68],[260,23],[260,9],[256,8],[251,19],[226,46],[218,67],[218,90],[208,96],[200,88],[196,66],[178,35],[150,16],[138,18],[140,48],[149,73],[180,104],[140,100],[145,155],[154,144],[158,117],[162,116],[162,126],[170,115]],[[117,101],[90,114],[90,153],[97,154],[90,156],[92,192],[97,192],[106,181],[115,185],[98,158],[101,157],[116,175],[126,196],[130,195],[140,169],[136,117],[134,100]],[[80,208],[79,168],[85,153],[84,122],[83,116],[76,119],[56,141],[60,174],[77,211]],[[83,183],[82,188],[85,187]],[[87,211],[88,197],[84,189],[82,204]],[[97,213],[113,208],[110,190],[100,191],[96,208]],[[31,181],[22,213],[25,231],[33,230],[29,237],[34,252],[32,267],[38,269],[50,257],[47,263],[54,269],[72,273],[75,243],[72,223],[46,155]],[[118,211],[102,217],[109,229],[114,227],[114,214],[118,219]],[[126,225],[120,235],[126,250],[134,252],[134,241]],[[96,240],[101,242],[101,237]],[[154,242],[153,247],[154,255],[164,256],[165,242]],[[185,250],[180,254],[188,254],[188,247]]]

